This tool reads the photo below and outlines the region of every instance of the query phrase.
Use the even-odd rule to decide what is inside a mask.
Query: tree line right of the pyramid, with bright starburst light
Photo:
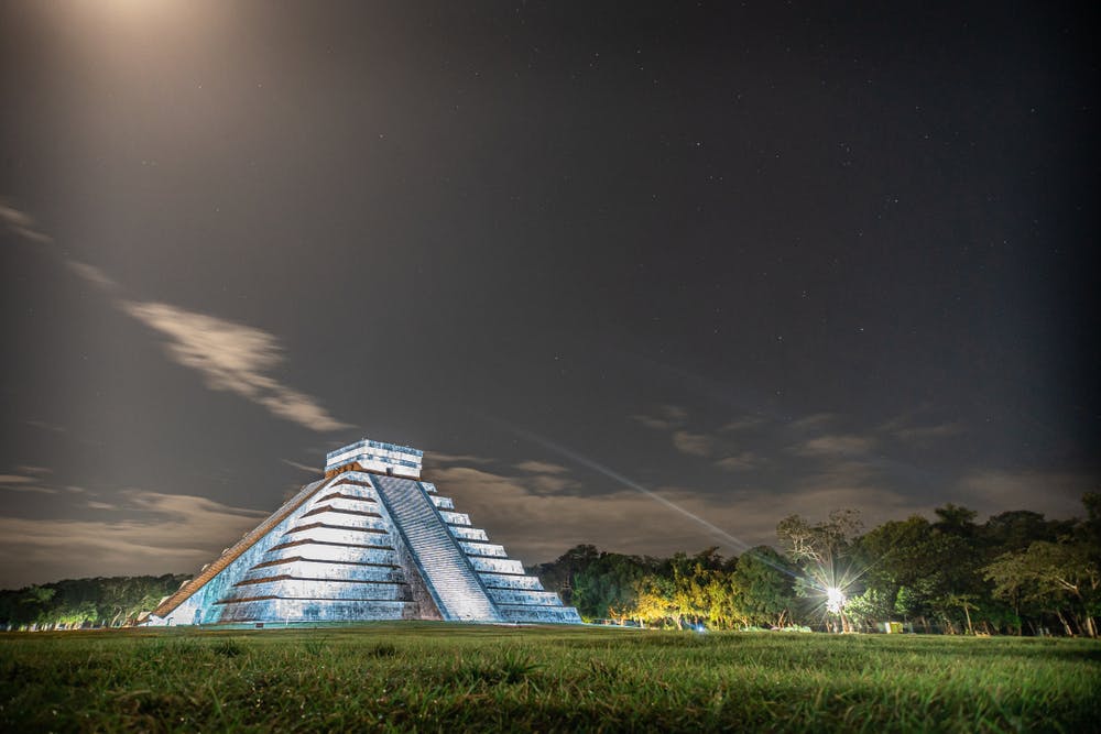
[[[975,523],[953,504],[863,532],[853,511],[776,528],[782,550],[672,558],[577,546],[533,569],[587,620],[713,628],[1098,636],[1101,495],[1084,519],[1013,511]],[[843,594],[843,596],[842,596]]]

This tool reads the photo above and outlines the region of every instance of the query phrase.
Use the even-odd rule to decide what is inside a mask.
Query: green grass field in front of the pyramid
[[[1098,731],[1101,644],[433,623],[0,635],[0,728]]]

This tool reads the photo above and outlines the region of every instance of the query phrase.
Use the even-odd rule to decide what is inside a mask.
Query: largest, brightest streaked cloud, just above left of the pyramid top
[[[283,361],[282,347],[271,333],[168,304],[123,300],[119,307],[166,337],[168,359],[199,372],[210,390],[235,393],[313,430],[351,427],[330,416],[309,395],[269,374]]]

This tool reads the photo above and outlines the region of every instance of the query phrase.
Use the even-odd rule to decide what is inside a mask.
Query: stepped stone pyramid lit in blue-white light
[[[363,439],[164,599],[149,625],[446,620],[580,624],[419,481],[423,451]]]

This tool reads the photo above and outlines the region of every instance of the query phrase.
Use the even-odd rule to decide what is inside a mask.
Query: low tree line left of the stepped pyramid
[[[133,624],[176,591],[187,576],[69,579],[0,591],[0,627],[43,629]]]

